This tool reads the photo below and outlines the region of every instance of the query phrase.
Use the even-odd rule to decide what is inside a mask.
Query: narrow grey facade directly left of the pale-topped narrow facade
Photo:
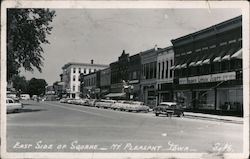
[[[157,53],[155,48],[141,52],[141,100],[148,106],[154,107],[157,104],[156,92],[156,72],[157,72]]]

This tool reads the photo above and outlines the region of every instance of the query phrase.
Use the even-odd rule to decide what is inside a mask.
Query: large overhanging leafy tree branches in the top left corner
[[[7,10],[7,80],[19,73],[34,68],[42,71],[43,48],[49,44],[55,11],[49,9],[8,9]]]

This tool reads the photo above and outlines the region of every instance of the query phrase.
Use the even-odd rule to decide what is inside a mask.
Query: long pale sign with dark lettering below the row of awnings
[[[180,78],[179,84],[208,83],[208,82],[235,80],[235,79],[236,79],[236,72],[226,72],[226,73],[218,73],[212,75]]]

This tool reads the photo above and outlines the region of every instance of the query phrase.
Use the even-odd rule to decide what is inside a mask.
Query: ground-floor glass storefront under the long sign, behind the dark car
[[[174,101],[187,111],[229,114],[243,113],[243,86],[241,80],[176,85]]]

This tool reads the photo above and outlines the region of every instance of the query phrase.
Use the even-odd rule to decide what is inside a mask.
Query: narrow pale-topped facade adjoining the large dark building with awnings
[[[166,47],[158,51],[157,55],[157,93],[158,103],[173,101],[173,47]]]

